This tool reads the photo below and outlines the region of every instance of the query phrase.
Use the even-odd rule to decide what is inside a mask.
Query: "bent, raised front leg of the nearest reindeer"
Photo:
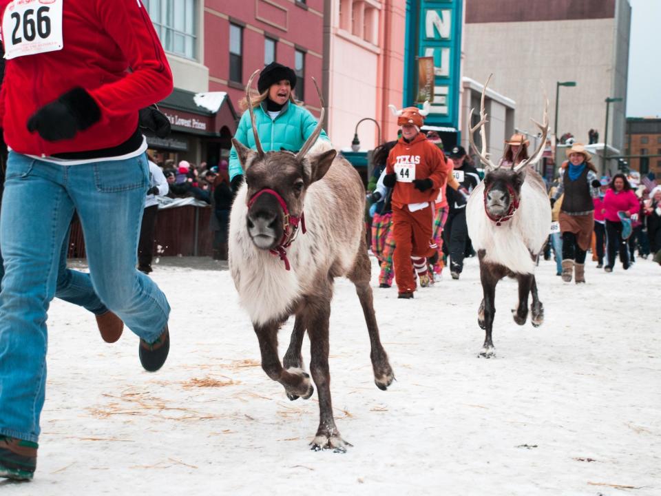
[[[301,369],[284,370],[277,356],[277,331],[282,322],[268,322],[264,325],[253,324],[262,352],[262,369],[271,379],[280,382],[288,394],[308,399],[315,389],[310,383],[310,375]]]

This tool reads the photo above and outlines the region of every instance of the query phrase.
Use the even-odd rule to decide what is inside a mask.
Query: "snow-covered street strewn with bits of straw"
[[[330,373],[346,454],[308,449],[316,394],[290,402],[266,377],[228,271],[155,266],[173,310],[170,355],[154,374],[136,335],[105,344],[92,314],[55,300],[34,481],[0,482],[0,493],[661,494],[661,268],[595,265],[577,286],[541,261],[538,329],[514,323],[516,285],[501,282],[493,360],[477,358],[475,258],[460,280],[445,273],[415,300],[378,289],[374,269],[397,377],[386,392],[373,382],[353,285],[337,280]]]

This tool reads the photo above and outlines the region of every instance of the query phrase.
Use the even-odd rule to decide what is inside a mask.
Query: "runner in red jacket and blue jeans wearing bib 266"
[[[0,0],[0,17],[0,127],[11,149],[0,215],[0,477],[31,479],[46,311],[74,210],[99,298],[140,336],[147,371],[167,358],[169,304],[135,266],[149,184],[138,110],[171,92],[172,74],[139,0]]]

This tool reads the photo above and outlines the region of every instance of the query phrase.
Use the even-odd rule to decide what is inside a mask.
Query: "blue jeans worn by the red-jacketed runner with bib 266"
[[[145,155],[63,166],[10,152],[0,215],[0,435],[39,440],[45,397],[46,312],[74,209],[94,291],[140,338],[162,333],[169,304],[136,270],[149,184]]]

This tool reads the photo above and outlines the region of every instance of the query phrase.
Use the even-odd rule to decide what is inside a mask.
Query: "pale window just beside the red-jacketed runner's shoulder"
[[[144,0],[163,49],[171,54],[197,57],[197,0]]]

